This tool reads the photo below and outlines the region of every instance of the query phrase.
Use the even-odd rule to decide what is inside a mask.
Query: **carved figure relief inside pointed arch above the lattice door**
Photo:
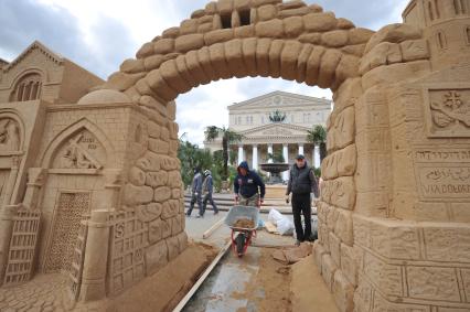
[[[58,151],[54,168],[60,169],[102,169],[105,162],[105,150],[95,136],[83,130]]]

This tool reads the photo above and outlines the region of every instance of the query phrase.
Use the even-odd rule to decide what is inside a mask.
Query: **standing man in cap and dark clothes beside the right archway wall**
[[[289,194],[292,193],[292,214],[293,224],[296,226],[297,241],[296,245],[305,240],[312,240],[311,229],[311,198],[310,193],[313,192],[318,196],[318,185],[313,171],[307,165],[306,158],[299,154],[296,163],[290,169],[289,183],[287,184],[286,203],[289,203]],[[303,214],[306,228],[303,230],[300,213]]]

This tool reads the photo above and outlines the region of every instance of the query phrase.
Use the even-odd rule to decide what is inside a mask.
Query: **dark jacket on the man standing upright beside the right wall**
[[[290,192],[292,192],[292,194],[308,194],[313,192],[316,197],[318,196],[317,179],[307,162],[303,168],[298,168],[295,163],[290,169],[287,195],[289,195]]]

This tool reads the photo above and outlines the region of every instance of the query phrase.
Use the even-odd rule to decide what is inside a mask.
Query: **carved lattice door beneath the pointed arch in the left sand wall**
[[[71,270],[81,222],[89,214],[90,193],[61,193],[50,235],[45,271]]]

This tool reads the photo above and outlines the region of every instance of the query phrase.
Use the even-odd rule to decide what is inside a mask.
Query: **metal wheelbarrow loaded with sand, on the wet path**
[[[253,228],[237,227],[236,222],[239,219],[248,219],[254,224]],[[233,206],[227,216],[225,224],[232,229],[232,249],[238,256],[245,255],[252,238],[256,237],[256,227],[258,226],[259,209],[252,206]]]

